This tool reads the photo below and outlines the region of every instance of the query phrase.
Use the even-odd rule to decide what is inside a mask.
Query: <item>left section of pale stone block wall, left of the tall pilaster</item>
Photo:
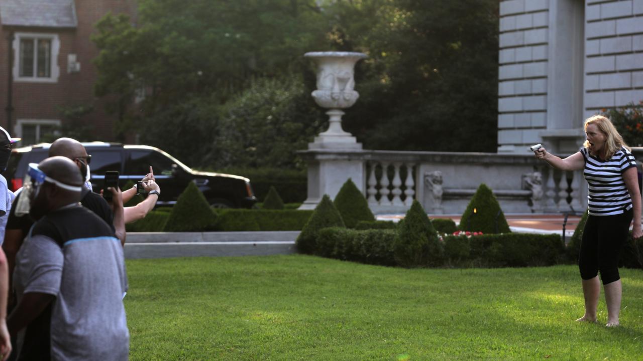
[[[500,3],[499,152],[540,142],[547,127],[548,0]]]

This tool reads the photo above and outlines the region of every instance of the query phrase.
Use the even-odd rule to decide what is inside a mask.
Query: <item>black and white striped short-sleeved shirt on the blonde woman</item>
[[[587,148],[582,148],[581,154],[585,159],[583,175],[590,189],[587,196],[590,215],[620,215],[631,209],[632,200],[623,173],[636,166],[637,161],[629,150],[621,147],[606,161],[590,155]]]

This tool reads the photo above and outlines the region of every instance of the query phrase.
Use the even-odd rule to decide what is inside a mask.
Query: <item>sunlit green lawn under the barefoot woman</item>
[[[131,360],[643,360],[643,271],[620,328],[576,323],[575,266],[399,269],[312,256],[128,260]]]

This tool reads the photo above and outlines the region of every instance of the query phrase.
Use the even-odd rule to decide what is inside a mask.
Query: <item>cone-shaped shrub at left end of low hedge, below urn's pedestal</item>
[[[320,229],[327,227],[346,227],[346,225],[341,219],[340,212],[332,204],[331,198],[323,195],[311,218],[303,226],[302,233],[297,237],[295,244],[298,251],[314,254],[317,251],[317,233]]]

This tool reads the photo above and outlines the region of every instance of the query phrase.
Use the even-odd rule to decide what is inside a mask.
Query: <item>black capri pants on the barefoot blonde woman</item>
[[[619,258],[632,216],[630,208],[620,215],[587,217],[578,257],[581,278],[592,279],[600,271],[603,285],[620,279]]]

